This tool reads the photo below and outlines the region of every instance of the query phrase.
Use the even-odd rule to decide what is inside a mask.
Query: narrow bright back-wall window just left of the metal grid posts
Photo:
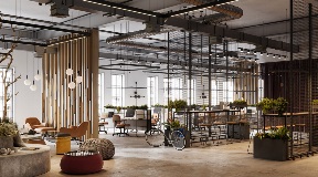
[[[147,77],[148,107],[158,103],[158,76]]]

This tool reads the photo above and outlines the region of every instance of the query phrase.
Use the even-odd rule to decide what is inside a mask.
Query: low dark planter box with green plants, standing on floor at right
[[[286,127],[272,128],[254,136],[254,158],[287,160],[289,132]]]

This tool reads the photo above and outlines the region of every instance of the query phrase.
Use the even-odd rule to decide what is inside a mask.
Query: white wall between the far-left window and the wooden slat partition
[[[2,51],[3,52],[3,51]],[[21,79],[18,80],[14,84],[15,93],[19,92],[14,97],[14,121],[18,126],[21,127],[24,124],[25,117],[35,116],[39,119],[42,119],[42,98],[41,98],[41,81],[35,81],[35,85],[38,86],[36,91],[31,91],[30,86],[24,85],[24,80],[26,75],[26,64],[28,64],[28,73],[29,80],[33,79],[34,74],[36,74],[38,70],[38,61],[39,58],[34,60],[34,74],[33,74],[33,52],[18,51],[14,50],[13,53],[13,63],[12,67],[15,70],[15,76],[21,74]],[[28,59],[28,60],[26,60]],[[28,62],[26,62],[28,61]],[[6,65],[3,62],[1,65]],[[39,67],[41,73],[41,60],[39,61]],[[2,115],[0,115],[2,116]]]

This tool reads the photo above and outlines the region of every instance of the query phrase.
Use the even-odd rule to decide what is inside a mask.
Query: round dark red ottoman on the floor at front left
[[[102,170],[104,165],[102,155],[98,153],[70,152],[66,153],[60,163],[65,174],[93,174]]]

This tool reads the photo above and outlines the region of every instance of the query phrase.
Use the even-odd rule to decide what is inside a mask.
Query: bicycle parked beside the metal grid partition
[[[152,147],[160,147],[165,145],[165,138],[169,145],[172,145],[177,150],[182,150],[186,145],[186,137],[179,129],[171,131],[168,135],[161,129],[150,129],[145,132],[146,142]],[[168,136],[168,137],[167,137]]]

